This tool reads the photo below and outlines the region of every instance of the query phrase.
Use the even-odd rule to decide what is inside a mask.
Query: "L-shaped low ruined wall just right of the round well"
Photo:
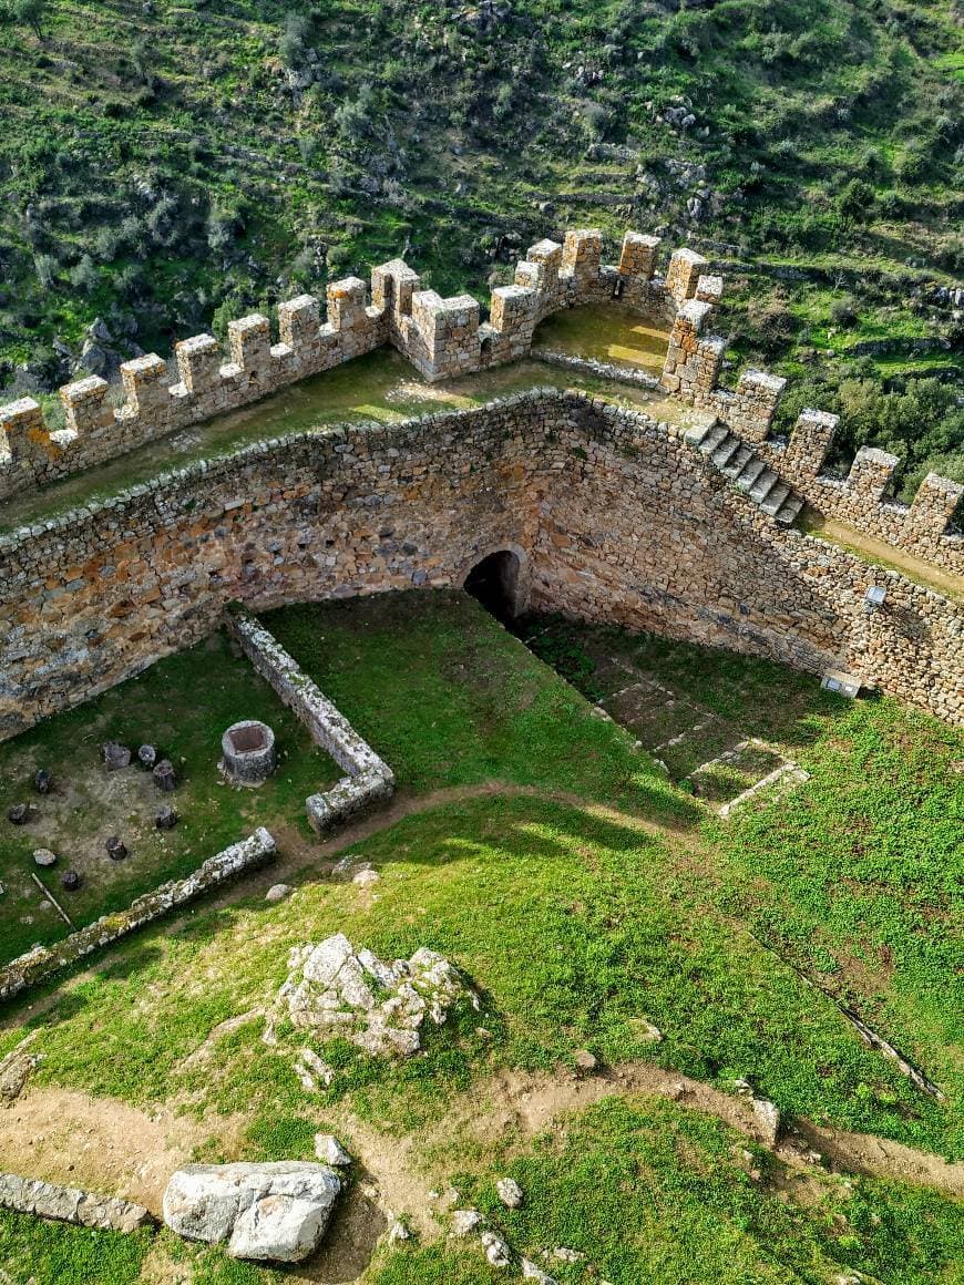
[[[388,763],[321,694],[278,639],[243,609],[229,609],[225,622],[254,669],[308,729],[315,744],[348,774],[330,790],[305,801],[312,829],[323,834],[389,799],[395,774]]]

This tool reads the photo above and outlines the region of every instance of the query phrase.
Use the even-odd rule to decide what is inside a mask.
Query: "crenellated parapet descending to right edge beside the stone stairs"
[[[726,343],[717,335],[703,334],[711,311],[695,297],[680,307],[663,368],[666,391],[689,406],[717,415],[821,514],[964,574],[964,536],[949,529],[964,487],[931,473],[913,504],[901,504],[887,496],[900,460],[873,447],[857,451],[846,477],[825,472],[839,423],[837,415],[825,411],[805,410],[788,442],[772,438],[774,415],[787,380],[748,369],[735,388],[721,388]]]

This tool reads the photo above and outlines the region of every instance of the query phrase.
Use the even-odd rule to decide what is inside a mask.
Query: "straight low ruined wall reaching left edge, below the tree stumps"
[[[91,951],[126,937],[145,924],[161,919],[179,906],[194,901],[202,893],[217,888],[239,874],[256,870],[274,857],[275,840],[267,830],[258,828],[247,839],[231,844],[216,857],[210,857],[186,879],[172,879],[153,892],[136,897],[126,910],[103,915],[87,928],[71,933],[54,946],[36,946],[0,968],[0,1000],[9,1000],[37,982],[42,982],[58,969],[75,964]],[[37,1210],[40,1212],[40,1210]],[[50,1217],[58,1217],[51,1214]]]

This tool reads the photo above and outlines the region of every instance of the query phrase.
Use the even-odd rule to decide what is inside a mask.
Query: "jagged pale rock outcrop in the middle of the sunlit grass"
[[[407,1058],[422,1047],[427,1018],[442,1025],[459,1001],[481,1006],[459,970],[425,947],[387,964],[335,933],[317,946],[296,947],[288,966],[279,1007],[292,1023],[323,1040],[342,1036],[374,1058]],[[267,1042],[274,1022],[269,1019]]]

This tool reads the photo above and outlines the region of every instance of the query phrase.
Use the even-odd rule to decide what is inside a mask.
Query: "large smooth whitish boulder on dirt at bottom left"
[[[328,1165],[188,1164],[165,1191],[165,1222],[188,1240],[228,1241],[233,1258],[299,1263],[321,1244],[342,1183]]]

